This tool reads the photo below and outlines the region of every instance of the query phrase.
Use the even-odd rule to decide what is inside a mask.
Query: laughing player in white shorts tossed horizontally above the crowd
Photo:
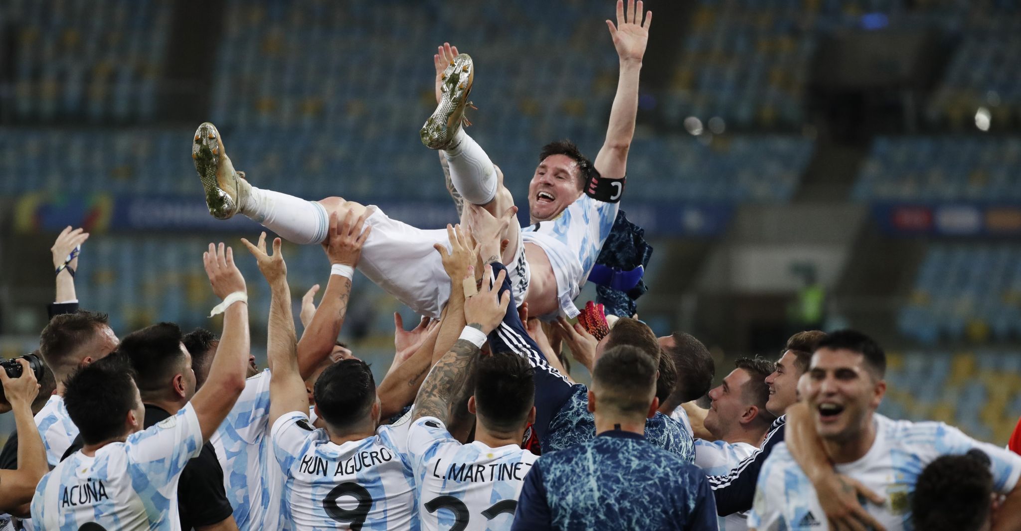
[[[652,13],[644,11],[641,0],[629,0],[627,11],[623,0],[617,2],[617,23],[606,20],[606,24],[621,70],[605,143],[594,164],[567,142],[543,148],[528,189],[532,224],[521,228],[512,219],[501,235],[507,245],[500,261],[507,265],[515,306],[527,301],[534,315],[577,315],[572,301],[617,217],[651,19]],[[495,217],[513,217],[515,202],[502,175],[461,128],[475,76],[471,57],[456,55],[441,76],[439,106],[422,128],[423,143],[441,150],[455,198]],[[445,230],[422,230],[387,217],[378,207],[339,197],[305,201],[257,189],[243,172],[235,171],[220,132],[208,122],[195,134],[192,157],[214,217],[227,219],[240,212],[296,244],[323,242],[331,213],[343,219],[348,212],[360,217],[369,211],[366,224],[373,234],[358,269],[417,313],[440,316],[450,286],[433,246],[447,244]],[[466,226],[472,226],[477,207],[464,211]]]

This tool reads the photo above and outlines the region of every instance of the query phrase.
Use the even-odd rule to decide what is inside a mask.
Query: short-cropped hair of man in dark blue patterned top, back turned
[[[592,369],[599,404],[624,414],[644,416],[652,405],[645,397],[655,385],[655,362],[636,347],[610,349]]]

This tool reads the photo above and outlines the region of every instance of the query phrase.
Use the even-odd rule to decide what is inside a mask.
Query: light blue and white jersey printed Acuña
[[[32,498],[36,529],[181,529],[178,480],[202,449],[202,430],[189,403],[172,417],[88,457],[71,454],[43,476]],[[88,528],[86,528],[88,529]],[[99,529],[99,528],[97,528]]]

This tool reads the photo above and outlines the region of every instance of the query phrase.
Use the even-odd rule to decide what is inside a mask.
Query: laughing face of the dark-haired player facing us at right
[[[845,349],[820,349],[813,355],[801,387],[824,439],[854,439],[879,407],[886,384],[868,370],[864,360]]]

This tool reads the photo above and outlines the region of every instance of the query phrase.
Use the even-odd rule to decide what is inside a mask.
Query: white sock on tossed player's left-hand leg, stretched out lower
[[[240,210],[294,244],[321,244],[330,230],[330,216],[323,205],[272,190],[252,187]]]

